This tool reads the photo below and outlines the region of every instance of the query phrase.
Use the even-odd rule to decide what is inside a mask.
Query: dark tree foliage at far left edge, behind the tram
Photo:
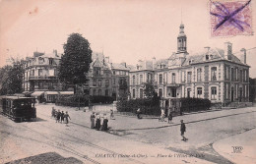
[[[13,66],[5,66],[0,70],[0,93],[14,94],[23,91],[24,69],[21,61],[13,61]]]

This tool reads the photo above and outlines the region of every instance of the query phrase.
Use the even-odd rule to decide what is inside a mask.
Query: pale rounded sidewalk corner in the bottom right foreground
[[[256,129],[243,134],[226,137],[214,143],[214,149],[234,163],[256,163]],[[246,138],[246,139],[245,139]],[[241,146],[235,151],[232,146]]]

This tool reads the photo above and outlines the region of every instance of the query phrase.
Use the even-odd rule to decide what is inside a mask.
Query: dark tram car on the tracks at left
[[[35,98],[20,96],[0,96],[0,112],[15,122],[36,118]]]

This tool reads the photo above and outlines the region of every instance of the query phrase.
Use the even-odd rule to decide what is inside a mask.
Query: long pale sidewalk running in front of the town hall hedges
[[[91,121],[90,116],[92,111],[84,112],[84,108],[78,110],[78,108],[74,107],[65,107],[65,106],[55,106],[54,104],[45,104],[39,105],[39,108],[47,108],[49,111],[49,116],[51,112],[51,107],[55,109],[60,109],[60,111],[69,111],[69,115],[71,117],[71,123],[75,123],[78,125],[82,125],[84,127],[90,128]],[[44,110],[44,109],[39,109]],[[97,111],[94,111],[97,112]],[[179,126],[180,120],[184,120],[186,124],[202,122],[206,120],[213,120],[222,117],[228,117],[233,115],[239,115],[243,113],[254,113],[256,112],[255,107],[248,108],[237,108],[231,110],[216,110],[211,112],[197,113],[197,114],[185,114],[183,116],[173,117],[170,124],[167,123],[167,118],[165,118],[165,122],[160,122],[158,118],[155,119],[137,119],[136,116],[127,116],[114,114],[115,120],[110,120],[110,111],[107,113],[106,111],[99,111],[100,116],[103,116],[103,113],[106,113],[108,118],[108,126],[112,131],[129,131],[129,130],[146,130],[146,129],[160,129],[170,126]]]

